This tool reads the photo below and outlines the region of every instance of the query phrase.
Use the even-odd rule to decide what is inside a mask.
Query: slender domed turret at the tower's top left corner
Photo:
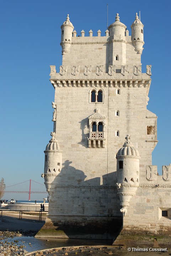
[[[74,30],[73,24],[69,20],[69,14],[67,15],[66,21],[61,26],[61,47],[62,54],[70,51],[72,32]]]

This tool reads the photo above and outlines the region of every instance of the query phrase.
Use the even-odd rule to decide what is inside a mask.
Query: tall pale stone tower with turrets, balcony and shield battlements
[[[76,36],[69,15],[61,26],[62,66],[59,73],[50,66],[54,133],[44,151],[43,174],[50,196],[45,226],[63,230],[55,237],[112,239],[122,225],[134,232],[138,221],[139,231],[158,232],[170,221],[158,215],[171,208],[169,197],[162,200],[161,189],[160,196],[153,189],[156,184],[170,189],[171,169],[164,167],[161,177],[151,165],[157,116],[147,109],[151,65],[141,72],[143,27],[137,14],[132,36],[119,14],[105,36],[100,30],[97,36],[92,30]],[[126,134],[136,149],[129,135],[123,145]],[[153,228],[149,215],[157,223]]]

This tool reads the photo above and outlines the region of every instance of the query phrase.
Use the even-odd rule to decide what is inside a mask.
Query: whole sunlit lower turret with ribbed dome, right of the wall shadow
[[[120,198],[121,212],[127,212],[130,199],[139,187],[139,152],[130,142],[129,134],[117,153],[117,189]]]

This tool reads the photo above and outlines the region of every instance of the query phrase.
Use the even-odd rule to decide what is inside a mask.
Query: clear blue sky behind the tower
[[[45,147],[53,131],[54,89],[49,82],[49,65],[57,72],[62,64],[60,26],[69,14],[81,35],[90,29],[102,36],[119,13],[120,21],[131,34],[135,13],[141,11],[144,24],[142,72],[152,65],[148,109],[158,116],[153,164],[161,174],[162,165],[171,162],[171,1],[57,1],[7,0],[0,2],[0,178],[6,186],[28,179],[43,184]],[[13,195],[27,200],[27,194]],[[6,194],[5,198],[11,198]],[[39,200],[44,194],[32,194]]]

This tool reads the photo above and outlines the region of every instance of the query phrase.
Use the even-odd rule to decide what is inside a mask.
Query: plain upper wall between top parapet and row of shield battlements
[[[70,51],[63,55],[62,65],[130,65],[133,73],[133,66],[141,64],[141,54],[135,51],[131,41],[115,40],[114,37],[72,37]],[[114,56],[118,60],[114,60]]]

